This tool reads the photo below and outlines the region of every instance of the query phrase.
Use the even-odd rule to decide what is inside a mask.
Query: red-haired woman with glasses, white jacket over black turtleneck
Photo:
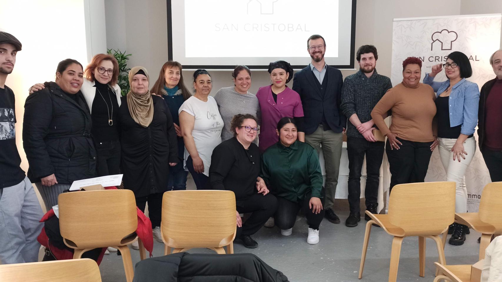
[[[117,60],[108,54],[97,54],[85,68],[82,94],[91,112],[91,134],[97,153],[98,176],[120,173],[120,143],[118,141],[118,107],[120,87]],[[30,93],[44,89],[35,84]]]

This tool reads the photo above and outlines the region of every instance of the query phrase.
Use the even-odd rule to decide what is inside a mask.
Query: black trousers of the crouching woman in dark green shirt
[[[298,202],[292,202],[285,198],[277,197],[277,211],[274,215],[276,226],[280,229],[293,228],[296,222],[296,215],[298,214],[298,211],[303,208],[309,227],[319,230],[319,225],[324,218],[325,197],[321,198],[323,209],[318,214],[315,214],[312,212],[312,209],[309,208],[310,194],[311,192],[309,191],[305,195],[305,198],[303,200],[298,199]]]

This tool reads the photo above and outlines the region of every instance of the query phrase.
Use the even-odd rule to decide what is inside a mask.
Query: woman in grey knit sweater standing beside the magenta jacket
[[[258,98],[247,91],[251,87],[251,71],[246,66],[237,66],[233,70],[232,80],[233,87],[223,87],[214,95],[224,123],[221,131],[222,142],[233,137],[230,122],[237,114],[251,114],[258,118],[258,125],[260,125],[261,113]],[[254,142],[257,143],[257,140],[255,139]]]

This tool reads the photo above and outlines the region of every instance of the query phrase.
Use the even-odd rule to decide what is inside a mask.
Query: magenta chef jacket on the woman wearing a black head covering
[[[272,85],[260,87],[256,97],[262,112],[258,147],[263,153],[270,145],[279,141],[276,132],[279,120],[283,117],[303,117],[303,106],[300,95],[288,86],[277,95],[277,103],[272,97]]]

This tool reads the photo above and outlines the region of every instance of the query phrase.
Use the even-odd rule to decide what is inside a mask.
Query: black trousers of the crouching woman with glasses
[[[246,200],[237,200],[236,208],[239,213],[251,212],[242,227],[237,227],[236,238],[240,235],[253,235],[274,215],[277,208],[277,199],[272,194],[253,194]]]

